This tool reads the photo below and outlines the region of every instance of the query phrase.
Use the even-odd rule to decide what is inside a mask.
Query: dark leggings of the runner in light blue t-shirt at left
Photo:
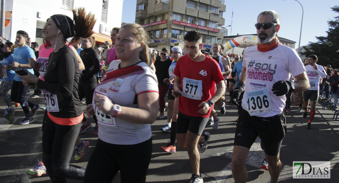
[[[11,100],[18,102],[21,105],[23,112],[25,113],[26,119],[31,118],[29,113],[29,107],[33,108],[35,104],[26,99],[29,87],[22,84],[21,81],[13,81],[11,89]],[[23,105],[27,103],[28,105]]]

